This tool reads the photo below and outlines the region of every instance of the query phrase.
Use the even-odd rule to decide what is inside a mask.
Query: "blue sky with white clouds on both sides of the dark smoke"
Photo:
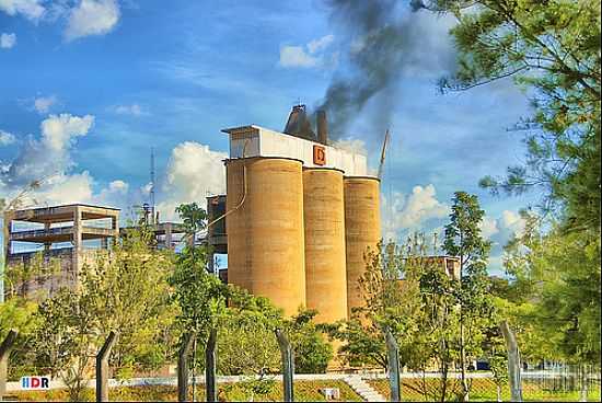
[[[521,134],[507,128],[529,115],[528,100],[509,81],[438,94],[437,79],[453,69],[453,20],[395,12],[408,13],[414,43],[384,103],[393,135],[385,234],[439,229],[453,192],[474,193],[498,270],[500,245],[532,199],[494,198],[477,182],[521,161]],[[0,0],[0,192],[45,172],[53,176],[38,203],[127,208],[147,200],[154,147],[166,217],[178,203],[223,192],[221,128],[282,129],[298,100],[319,104],[346,73],[354,45],[322,1]],[[347,134],[363,141],[372,165],[381,101]]]

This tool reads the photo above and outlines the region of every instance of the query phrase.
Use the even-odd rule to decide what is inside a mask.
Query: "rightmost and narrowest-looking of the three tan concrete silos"
[[[381,240],[380,181],[371,176],[344,180],[345,241],[347,255],[347,309],[364,303],[359,278],[366,272],[364,253]]]

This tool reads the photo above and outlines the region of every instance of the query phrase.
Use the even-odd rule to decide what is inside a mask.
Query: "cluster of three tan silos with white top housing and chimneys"
[[[379,180],[364,154],[314,135],[302,105],[283,133],[224,129],[228,283],[268,297],[285,313],[316,309],[320,322],[362,303],[363,255],[381,238]]]

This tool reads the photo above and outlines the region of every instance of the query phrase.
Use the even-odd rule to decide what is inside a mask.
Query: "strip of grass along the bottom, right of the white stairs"
[[[369,380],[368,383],[374,388],[386,399],[391,399],[389,389],[389,380]],[[438,389],[439,381],[436,379],[426,379],[422,382],[420,379],[404,379],[402,382],[402,400],[416,402],[416,401],[432,401],[436,398],[431,394],[429,398],[424,396],[424,391],[435,393]],[[450,390],[459,390],[459,382],[456,380],[449,381],[448,388]],[[525,402],[577,402],[579,401],[579,392],[570,391],[554,391],[551,389],[542,388],[536,383],[524,382],[523,383],[523,400]],[[508,385],[501,388],[501,400],[505,402],[510,401],[510,389]],[[471,401],[473,402],[491,402],[497,401],[497,388],[491,379],[477,378],[472,380],[471,388]],[[588,393],[588,401],[600,401],[600,385],[590,390]]]

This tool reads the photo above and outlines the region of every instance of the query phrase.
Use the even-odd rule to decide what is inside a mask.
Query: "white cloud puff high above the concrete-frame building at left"
[[[92,115],[50,115],[42,122],[42,139],[49,149],[60,151],[70,146],[72,138],[85,136],[93,124]]]

